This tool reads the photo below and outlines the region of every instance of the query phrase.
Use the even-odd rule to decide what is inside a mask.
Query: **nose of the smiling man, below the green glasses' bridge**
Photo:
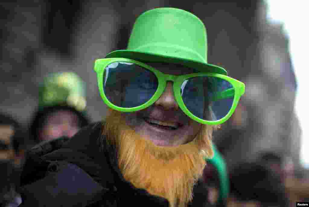
[[[170,81],[167,82],[164,92],[155,102],[155,105],[163,107],[164,110],[178,110],[179,106],[174,97],[173,85]]]

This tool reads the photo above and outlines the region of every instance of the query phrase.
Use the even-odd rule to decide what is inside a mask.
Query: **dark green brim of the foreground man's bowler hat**
[[[217,65],[198,62],[195,60],[189,60],[184,58],[176,58],[172,56],[154,54],[150,52],[137,52],[133,50],[116,50],[108,53],[105,58],[128,58],[141,62],[174,63],[187,66],[188,68],[194,68],[201,72],[212,72],[227,75],[226,70]]]

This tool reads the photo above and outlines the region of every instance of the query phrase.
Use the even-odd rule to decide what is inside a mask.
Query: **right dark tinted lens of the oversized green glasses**
[[[181,96],[187,109],[198,118],[217,121],[231,110],[234,88],[218,77],[193,77],[181,85]]]

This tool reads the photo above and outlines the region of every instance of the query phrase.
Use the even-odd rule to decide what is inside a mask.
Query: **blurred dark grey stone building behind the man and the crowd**
[[[50,72],[73,71],[87,83],[87,111],[104,118],[94,60],[126,48],[143,11],[176,7],[196,14],[208,32],[208,62],[246,84],[233,117],[214,135],[228,166],[262,151],[299,164],[300,133],[294,113],[297,82],[282,25],[266,19],[263,1],[18,1],[2,2],[0,110],[28,124],[38,85]]]

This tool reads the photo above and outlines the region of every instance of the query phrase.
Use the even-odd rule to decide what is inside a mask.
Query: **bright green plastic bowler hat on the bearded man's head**
[[[226,75],[224,68],[207,63],[206,28],[197,16],[176,8],[156,8],[135,21],[128,47],[105,58],[175,63],[201,72]]]

